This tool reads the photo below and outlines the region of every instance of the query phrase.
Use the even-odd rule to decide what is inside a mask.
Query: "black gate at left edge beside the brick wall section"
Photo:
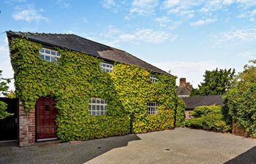
[[[7,112],[13,113],[13,116],[0,120],[0,141],[18,139],[18,99],[17,98],[0,98],[7,104]]]

